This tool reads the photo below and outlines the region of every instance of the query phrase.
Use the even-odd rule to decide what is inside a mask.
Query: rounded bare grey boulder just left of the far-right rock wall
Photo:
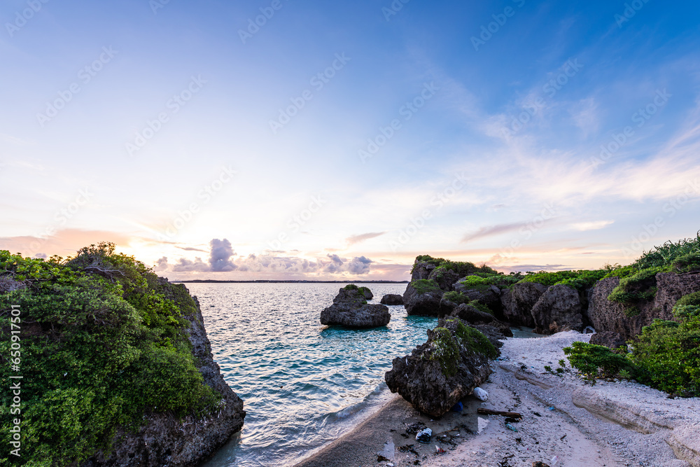
[[[562,330],[581,330],[581,298],[575,288],[557,284],[547,288],[532,307],[535,330],[540,334],[554,334]]]

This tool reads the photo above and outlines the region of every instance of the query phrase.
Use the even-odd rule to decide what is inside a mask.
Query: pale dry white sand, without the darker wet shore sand
[[[482,407],[523,414],[512,424],[518,433],[505,428],[502,417],[484,416],[489,421],[482,433],[421,465],[552,466],[558,456],[556,466],[700,466],[699,398],[671,400],[641,384],[590,386],[573,372],[545,372],[545,365],[554,370],[565,358],[563,347],[589,338],[571,331],[505,341],[503,361],[484,385],[490,397]]]

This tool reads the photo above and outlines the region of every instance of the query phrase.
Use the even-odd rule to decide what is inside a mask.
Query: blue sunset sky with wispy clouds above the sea
[[[170,279],[629,264],[700,229],[696,1],[6,0],[0,249]]]

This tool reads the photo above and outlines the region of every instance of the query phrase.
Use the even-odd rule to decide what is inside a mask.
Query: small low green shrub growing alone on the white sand
[[[573,342],[571,347],[564,347],[570,365],[583,373],[587,379],[598,377],[615,377],[620,370],[629,371],[631,365],[627,359],[602,345],[588,342]]]

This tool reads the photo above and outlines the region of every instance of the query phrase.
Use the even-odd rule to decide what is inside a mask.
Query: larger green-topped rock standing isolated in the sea
[[[367,305],[365,295],[356,288],[341,288],[333,305],[321,312],[321,324],[346,328],[377,328],[391,320],[388,307]]]

